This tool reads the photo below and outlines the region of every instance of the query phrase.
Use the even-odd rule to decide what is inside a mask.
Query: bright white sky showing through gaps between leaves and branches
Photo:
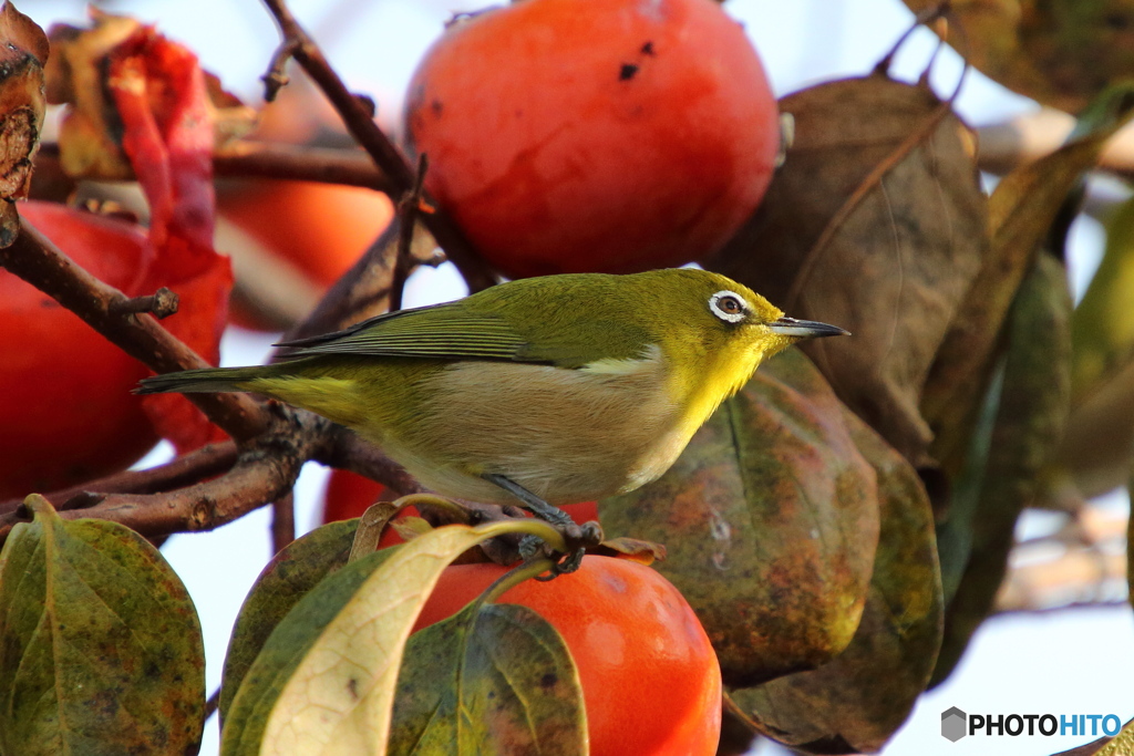
[[[17,6],[46,27],[53,22],[82,24],[83,0],[23,0]],[[440,34],[451,11],[477,2],[460,0],[295,0],[293,10],[324,45],[331,62],[352,88],[370,93],[386,125],[397,120],[403,90],[417,60]],[[155,22],[185,42],[225,85],[259,101],[259,77],[278,43],[276,26],[256,0],[177,0],[105,2],[105,10]],[[779,95],[812,83],[866,74],[906,29],[912,15],[899,0],[729,0],[726,8],[745,23]],[[913,79],[936,46],[920,31],[904,48],[894,73]],[[939,92],[951,92],[959,65],[945,56],[934,71]],[[295,71],[294,76],[303,76]],[[971,74],[957,108],[973,125],[1001,120],[1035,109],[978,74]],[[1074,284],[1082,290],[1100,254],[1092,222],[1075,229]],[[459,296],[449,271],[423,271],[412,280],[408,304]],[[272,338],[231,331],[222,345],[223,363],[251,364],[264,357]],[[168,452],[167,452],[168,453]],[[296,490],[297,526],[316,524],[316,499],[325,470],[308,465]],[[1116,495],[1116,509],[1126,506]],[[261,510],[211,534],[170,538],[163,552],[185,580],[202,614],[208,653],[208,687],[219,683],[228,635],[244,595],[270,555],[269,515]],[[1115,713],[1134,716],[1134,617],[1128,608],[1000,618],[983,626],[958,671],[924,696],[914,716],[886,753],[997,753],[1040,756],[1091,738],[1018,737],[942,739],[940,713],[958,706],[970,713]],[[1119,681],[1125,680],[1125,685]],[[215,717],[202,754],[217,753]],[[767,751],[765,751],[767,753]]]

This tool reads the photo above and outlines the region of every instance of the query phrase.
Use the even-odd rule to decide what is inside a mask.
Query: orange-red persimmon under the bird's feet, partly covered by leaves
[[[456,564],[415,630],[455,614],[508,568]],[[527,580],[500,603],[539,612],[578,668],[592,756],[711,756],[720,737],[720,665],[693,610],[643,564],[585,557],[578,571]]]

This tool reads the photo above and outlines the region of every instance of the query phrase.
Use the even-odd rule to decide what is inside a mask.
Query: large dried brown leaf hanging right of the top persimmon
[[[988,245],[972,131],[928,87],[882,74],[804,90],[780,110],[796,124],[787,162],[708,266],[852,331],[804,350],[843,401],[929,464],[921,388]]]

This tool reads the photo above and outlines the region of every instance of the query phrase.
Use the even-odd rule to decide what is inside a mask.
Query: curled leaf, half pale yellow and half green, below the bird
[[[221,753],[384,754],[406,639],[441,571],[533,520],[448,526],[369,554],[325,578],[272,631],[229,711]]]

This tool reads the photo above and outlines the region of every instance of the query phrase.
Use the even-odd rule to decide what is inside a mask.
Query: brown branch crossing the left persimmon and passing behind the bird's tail
[[[76,265],[25,219],[20,219],[20,232],[11,246],[0,249],[0,266],[50,296],[158,373],[209,367],[200,355],[152,317],[111,312],[112,307],[129,301],[129,297]],[[189,398],[234,439],[254,438],[266,426],[261,405],[245,394],[195,393]]]

